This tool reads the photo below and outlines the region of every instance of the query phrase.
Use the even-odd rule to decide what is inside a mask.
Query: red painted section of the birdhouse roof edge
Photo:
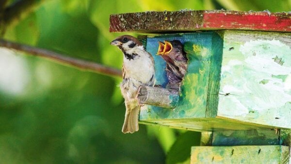
[[[290,31],[291,14],[207,13],[203,15],[204,28],[251,29],[268,31]]]

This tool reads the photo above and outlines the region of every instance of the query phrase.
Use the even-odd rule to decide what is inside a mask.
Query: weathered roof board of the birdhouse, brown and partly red
[[[217,29],[291,32],[291,13],[181,10],[113,14],[109,30],[161,33]]]

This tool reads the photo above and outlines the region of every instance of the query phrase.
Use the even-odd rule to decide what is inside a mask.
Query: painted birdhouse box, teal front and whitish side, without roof
[[[158,41],[184,43],[189,64],[175,109],[145,105],[140,123],[195,131],[291,129],[291,33],[148,35],[156,84],[167,83]]]

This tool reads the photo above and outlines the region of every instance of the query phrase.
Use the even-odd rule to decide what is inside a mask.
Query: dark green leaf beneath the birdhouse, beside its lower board
[[[191,155],[191,147],[200,145],[201,133],[188,131],[180,135],[167,154],[166,164],[186,163]]]

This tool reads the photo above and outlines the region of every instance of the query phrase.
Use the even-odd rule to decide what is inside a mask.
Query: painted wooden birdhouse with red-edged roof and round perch
[[[151,33],[139,38],[162,87],[158,41],[183,43],[189,61],[179,91],[142,87],[140,123],[202,132],[192,163],[291,163],[290,13],[114,14],[110,31]]]

